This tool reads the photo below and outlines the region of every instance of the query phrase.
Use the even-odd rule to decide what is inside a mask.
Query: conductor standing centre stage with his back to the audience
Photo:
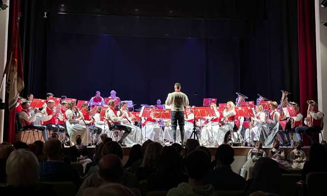
[[[171,105],[171,121],[173,140],[176,143],[177,123],[180,130],[181,145],[184,146],[184,106],[188,106],[187,96],[180,92],[180,84],[175,83],[175,92],[169,93],[166,99],[166,105]]]

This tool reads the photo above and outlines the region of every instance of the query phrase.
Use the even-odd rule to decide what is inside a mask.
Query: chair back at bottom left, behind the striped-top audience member
[[[42,181],[40,184],[50,185],[57,196],[74,196],[76,195],[76,185],[71,181],[50,182]]]

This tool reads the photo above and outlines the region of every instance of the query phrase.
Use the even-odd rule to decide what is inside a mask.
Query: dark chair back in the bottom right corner
[[[306,175],[306,196],[326,196],[327,172],[310,172]]]

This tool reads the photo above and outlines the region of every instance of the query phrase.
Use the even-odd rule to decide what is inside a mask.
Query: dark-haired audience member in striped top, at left
[[[47,161],[40,163],[41,181],[72,181],[77,187],[81,184],[78,172],[62,161],[61,142],[51,139],[44,145]]]

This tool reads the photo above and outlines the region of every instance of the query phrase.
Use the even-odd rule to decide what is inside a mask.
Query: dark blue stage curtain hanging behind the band
[[[23,7],[24,94],[85,100],[114,89],[122,100],[154,104],[180,82],[192,105],[235,101],[236,92],[279,101],[280,89],[299,100],[297,0],[267,0],[266,17],[243,20],[81,12],[43,18],[42,6]]]

